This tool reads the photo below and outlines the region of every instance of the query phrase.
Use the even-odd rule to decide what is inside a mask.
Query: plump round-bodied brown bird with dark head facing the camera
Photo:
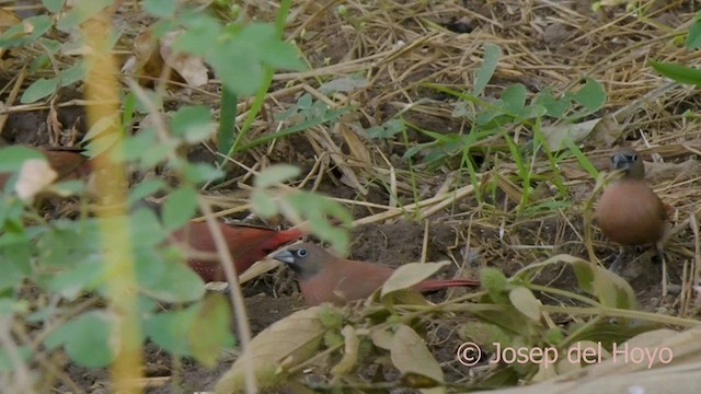
[[[608,185],[599,199],[595,217],[601,232],[620,245],[659,247],[673,208],[645,182],[640,154],[629,147],[617,150],[611,155],[611,170],[621,170],[623,175]]]

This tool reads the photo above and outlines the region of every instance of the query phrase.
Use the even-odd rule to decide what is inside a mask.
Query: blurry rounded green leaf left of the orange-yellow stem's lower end
[[[51,332],[44,344],[48,348],[62,345],[66,354],[83,367],[106,367],[114,359],[111,346],[114,326],[114,317],[106,312],[85,312]]]

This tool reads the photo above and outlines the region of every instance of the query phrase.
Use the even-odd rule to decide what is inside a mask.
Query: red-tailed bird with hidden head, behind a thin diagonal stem
[[[252,225],[227,225],[219,229],[229,247],[237,275],[241,275],[278,247],[306,234],[300,229],[276,231]],[[187,243],[191,254],[187,264],[204,281],[226,281],[223,267],[217,255],[217,246],[206,222],[193,222],[176,230],[169,239],[170,244]]]

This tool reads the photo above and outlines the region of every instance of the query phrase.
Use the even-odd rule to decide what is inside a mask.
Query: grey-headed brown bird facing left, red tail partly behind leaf
[[[312,243],[290,246],[273,258],[288,264],[297,274],[299,288],[308,305],[323,302],[344,304],[368,298],[394,273],[394,268],[386,265],[336,257]],[[462,286],[480,286],[480,281],[428,279],[414,286],[414,289],[434,291]]]

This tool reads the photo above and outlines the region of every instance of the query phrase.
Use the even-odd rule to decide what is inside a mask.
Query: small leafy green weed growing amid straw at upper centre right
[[[562,207],[552,202],[539,202],[538,207],[530,207],[533,185],[543,181],[553,182],[560,198],[566,196],[566,188],[563,186],[558,165],[560,157],[548,147],[542,121],[543,119],[564,124],[581,121],[602,107],[606,93],[598,82],[587,78],[576,90],[570,90],[560,95],[554,94],[551,89],[544,89],[529,97],[526,86],[516,83],[504,89],[499,93],[499,99],[490,100],[485,97],[485,90],[497,69],[501,54],[501,49],[495,45],[484,46],[484,58],[474,72],[474,83],[470,92],[459,92],[435,83],[423,84],[458,99],[452,115],[464,119],[464,131],[453,134],[425,130],[400,118],[390,119],[381,126],[371,128],[368,134],[372,138],[393,138],[395,135],[403,135],[407,142],[404,158],[413,160],[421,154],[423,165],[429,169],[445,165],[451,158],[459,158],[460,170],[467,170],[470,183],[478,190],[476,197],[481,201],[483,196],[480,193],[482,190],[479,181],[480,169],[496,163],[490,159],[491,153],[508,153],[515,159],[517,166],[515,177],[521,188],[518,210]],[[406,127],[413,128],[432,140],[424,143],[407,141]],[[519,135],[518,142],[515,138],[516,134]],[[543,153],[549,159],[550,176],[538,175],[532,167],[533,159]],[[478,157],[487,161],[487,164],[478,162],[475,159]]]

